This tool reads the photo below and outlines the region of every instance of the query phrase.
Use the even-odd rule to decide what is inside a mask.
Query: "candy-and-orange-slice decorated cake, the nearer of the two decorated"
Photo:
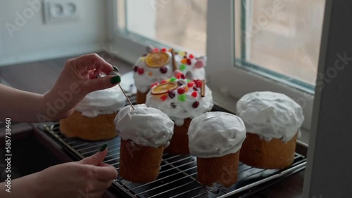
[[[189,154],[187,131],[191,119],[213,107],[213,97],[203,80],[183,79],[180,73],[153,84],[146,95],[146,106],[161,110],[175,121],[174,135],[165,150],[170,154]]]

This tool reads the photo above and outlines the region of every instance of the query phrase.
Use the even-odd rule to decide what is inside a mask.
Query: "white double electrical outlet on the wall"
[[[82,0],[44,0],[44,22],[79,20],[82,15]]]

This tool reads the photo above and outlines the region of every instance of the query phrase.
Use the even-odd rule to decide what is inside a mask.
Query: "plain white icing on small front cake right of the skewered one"
[[[188,129],[189,152],[201,158],[236,153],[246,138],[241,118],[225,112],[208,112],[195,117]]]

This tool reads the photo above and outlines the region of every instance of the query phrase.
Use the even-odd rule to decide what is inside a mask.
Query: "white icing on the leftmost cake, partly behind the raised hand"
[[[125,95],[118,86],[93,91],[78,103],[75,110],[85,117],[96,117],[99,114],[113,114],[125,107]]]

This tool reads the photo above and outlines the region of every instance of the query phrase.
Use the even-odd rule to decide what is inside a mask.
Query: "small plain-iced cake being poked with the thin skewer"
[[[172,137],[172,120],[161,110],[142,104],[126,106],[114,121],[121,138],[120,176],[134,183],[155,180]]]

